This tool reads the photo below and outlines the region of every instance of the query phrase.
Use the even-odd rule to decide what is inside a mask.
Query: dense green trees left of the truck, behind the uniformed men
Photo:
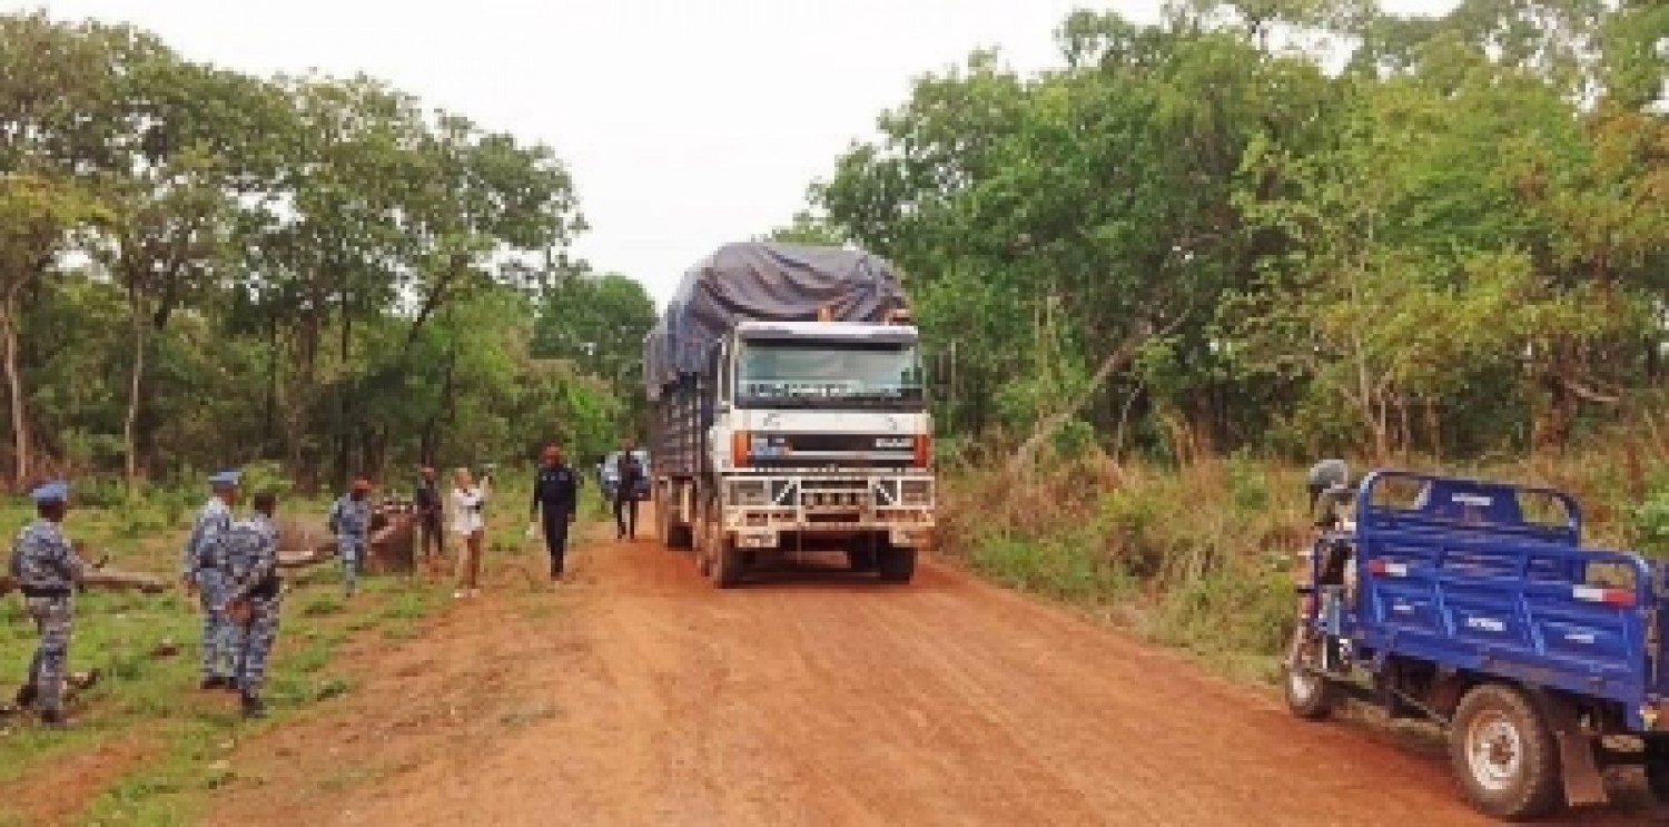
[[[581,231],[547,147],[371,79],[3,15],[3,476],[601,451],[654,307]]]

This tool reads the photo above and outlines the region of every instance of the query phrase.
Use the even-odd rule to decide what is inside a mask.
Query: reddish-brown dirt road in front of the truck
[[[332,717],[240,748],[212,820],[1484,824],[1440,757],[946,568],[716,591],[639,541],[556,596],[492,583],[369,655]]]

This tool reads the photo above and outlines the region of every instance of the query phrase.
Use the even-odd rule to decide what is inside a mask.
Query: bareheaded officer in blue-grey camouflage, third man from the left
[[[247,718],[265,715],[260,687],[279,637],[279,526],[272,523],[277,505],[270,491],[255,495],[254,513],[234,525],[225,541],[224,611],[237,630],[235,682]]]

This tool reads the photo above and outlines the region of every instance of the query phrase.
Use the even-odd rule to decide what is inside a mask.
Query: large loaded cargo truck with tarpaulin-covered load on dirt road
[[[885,259],[719,247],[644,339],[644,384],[659,535],[714,585],[819,550],[910,581],[935,526],[933,419]]]

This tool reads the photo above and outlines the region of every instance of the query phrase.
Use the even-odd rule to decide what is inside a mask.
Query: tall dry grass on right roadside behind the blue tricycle
[[[1639,431],[1564,456],[1399,464],[1571,491],[1586,545],[1669,556],[1669,449]],[[1312,536],[1303,481],[1303,468],[1243,456],[1180,469],[1085,463],[1023,483],[963,469],[941,483],[940,553],[1228,677],[1273,685],[1297,611],[1292,571]]]

